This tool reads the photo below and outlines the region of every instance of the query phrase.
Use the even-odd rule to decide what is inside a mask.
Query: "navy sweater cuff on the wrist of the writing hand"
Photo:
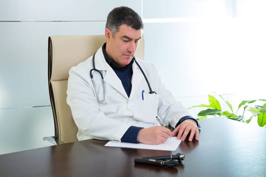
[[[137,141],[138,138],[138,132],[143,127],[138,126],[130,126],[128,130],[125,132],[123,137],[121,138],[121,142],[127,142],[127,143],[139,143]]]

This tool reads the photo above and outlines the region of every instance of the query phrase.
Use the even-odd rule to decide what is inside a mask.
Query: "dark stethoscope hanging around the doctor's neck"
[[[105,85],[104,85],[104,82],[103,82],[103,75],[102,75],[102,73],[98,69],[96,69],[96,67],[95,67],[95,54],[96,54],[96,52],[93,54],[93,57],[92,57],[92,65],[93,65],[93,68],[90,70],[90,77],[92,79],[92,84],[93,84],[93,87],[95,89],[96,84],[95,84],[94,79],[93,79],[93,74],[96,72],[96,73],[98,73],[100,75],[101,84],[102,84],[102,98],[99,97],[99,94],[96,94],[96,95],[97,95],[97,100],[99,102],[101,102],[101,103],[104,103],[104,101],[105,101],[105,95],[104,95],[104,93],[105,93]],[[136,62],[136,64],[138,65],[138,67],[139,67],[142,75],[144,76],[144,78],[146,80],[146,83],[147,83],[148,88],[149,88],[149,94],[157,94],[156,92],[154,92],[151,89],[146,74],[144,73],[143,69],[140,67],[140,65],[138,64],[138,62],[135,60],[135,58],[134,58],[134,62]],[[95,89],[95,91],[96,91],[96,89]]]

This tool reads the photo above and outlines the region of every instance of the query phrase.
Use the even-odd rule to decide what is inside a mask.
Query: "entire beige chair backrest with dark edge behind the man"
[[[78,127],[66,103],[68,71],[92,56],[105,41],[104,35],[50,36],[48,39],[49,95],[57,144],[78,141]],[[144,58],[144,36],[135,56]]]

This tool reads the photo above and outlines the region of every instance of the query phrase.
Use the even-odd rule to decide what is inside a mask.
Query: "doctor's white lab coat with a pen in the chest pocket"
[[[131,125],[140,127],[158,125],[156,115],[161,117],[165,125],[172,127],[175,127],[181,117],[193,116],[166,90],[155,65],[137,58],[136,60],[146,74],[151,89],[157,95],[148,94],[145,78],[134,62],[132,89],[128,98],[121,80],[106,63],[102,48],[95,55],[95,67],[104,77],[104,103],[97,101],[97,96],[103,97],[101,79],[97,78],[99,75],[96,72],[93,75],[95,87],[90,78],[90,70],[93,68],[92,57],[70,69],[67,103],[79,128],[78,140],[121,141]]]

